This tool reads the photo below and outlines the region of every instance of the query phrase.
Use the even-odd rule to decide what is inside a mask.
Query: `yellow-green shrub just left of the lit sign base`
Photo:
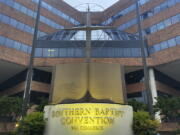
[[[19,127],[15,132],[23,132],[25,135],[43,135],[45,122],[43,120],[43,113],[34,112],[27,115],[19,122]]]

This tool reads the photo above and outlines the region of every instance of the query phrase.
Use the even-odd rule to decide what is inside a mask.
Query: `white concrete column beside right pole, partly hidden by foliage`
[[[149,69],[149,85],[150,85],[150,90],[152,93],[153,105],[155,105],[158,94],[157,94],[156,80],[155,80],[155,74],[154,74],[153,68]],[[155,114],[155,119],[161,122],[160,112]]]

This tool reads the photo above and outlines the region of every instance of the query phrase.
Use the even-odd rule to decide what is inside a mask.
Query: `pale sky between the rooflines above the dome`
[[[83,8],[85,8],[84,3],[96,3],[100,6],[96,7],[96,10],[104,10],[108,7],[110,7],[111,5],[113,5],[114,3],[116,3],[118,0],[64,0],[66,3],[70,4],[71,6],[78,8],[79,10],[85,10]],[[94,7],[93,5],[90,5],[92,7]],[[101,6],[104,8],[101,8]],[[95,9],[93,9],[95,10]]]

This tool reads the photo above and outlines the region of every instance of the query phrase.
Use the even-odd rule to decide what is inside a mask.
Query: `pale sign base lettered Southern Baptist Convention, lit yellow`
[[[78,103],[45,107],[45,135],[133,135],[132,107]]]

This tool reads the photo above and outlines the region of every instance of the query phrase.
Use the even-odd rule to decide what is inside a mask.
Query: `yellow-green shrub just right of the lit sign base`
[[[135,135],[156,135],[158,121],[153,120],[148,112],[134,112],[133,130]]]

